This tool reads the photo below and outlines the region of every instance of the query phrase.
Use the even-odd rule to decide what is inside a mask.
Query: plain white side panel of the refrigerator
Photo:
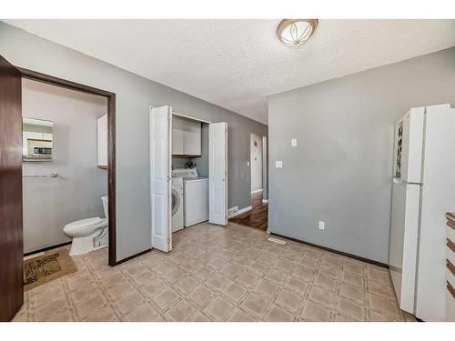
[[[416,316],[443,321],[446,219],[455,207],[455,109],[427,107]]]

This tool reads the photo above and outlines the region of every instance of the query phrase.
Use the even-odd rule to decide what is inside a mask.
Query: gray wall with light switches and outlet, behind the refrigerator
[[[455,48],[270,96],[270,231],[387,263],[393,126],[440,103],[455,105]]]

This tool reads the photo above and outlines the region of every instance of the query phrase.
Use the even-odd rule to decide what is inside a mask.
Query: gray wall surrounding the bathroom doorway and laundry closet
[[[0,23],[0,55],[14,65],[116,93],[117,258],[150,247],[149,105],[228,125],[228,206],[250,205],[249,134],[267,125]]]

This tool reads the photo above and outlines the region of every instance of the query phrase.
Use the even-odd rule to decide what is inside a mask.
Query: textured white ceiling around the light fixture
[[[304,45],[279,20],[6,20],[267,124],[267,96],[455,45],[455,20],[319,20]]]

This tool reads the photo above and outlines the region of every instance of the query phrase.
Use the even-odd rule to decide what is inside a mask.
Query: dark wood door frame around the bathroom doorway
[[[65,87],[107,98],[107,196],[109,220],[109,266],[116,266],[123,260],[116,260],[116,94],[96,87],[82,85],[53,75],[45,75],[23,67],[15,66],[23,78],[37,82]]]

